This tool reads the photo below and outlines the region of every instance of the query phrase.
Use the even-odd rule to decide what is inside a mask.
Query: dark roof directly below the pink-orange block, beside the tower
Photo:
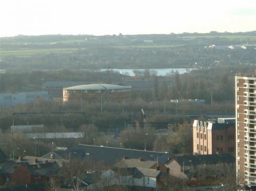
[[[213,154],[213,155],[183,155],[174,158],[180,165],[199,165],[235,162],[231,154]]]

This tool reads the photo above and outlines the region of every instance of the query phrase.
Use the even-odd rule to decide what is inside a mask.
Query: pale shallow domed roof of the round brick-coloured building
[[[67,87],[66,90],[123,90],[130,89],[131,86],[113,85],[113,84],[85,84]]]

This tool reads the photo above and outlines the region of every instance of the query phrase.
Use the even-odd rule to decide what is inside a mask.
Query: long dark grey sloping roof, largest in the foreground
[[[86,155],[89,153],[89,155]],[[52,152],[42,156],[42,158],[50,158]],[[145,151],[135,149],[125,149],[117,147],[103,147],[94,145],[79,144],[69,150],[54,151],[54,156],[58,159],[85,159],[91,162],[104,162],[105,164],[113,165],[119,160],[125,158],[146,160],[157,160],[160,164],[165,164],[171,155],[168,152]],[[54,158],[55,159],[55,158]]]

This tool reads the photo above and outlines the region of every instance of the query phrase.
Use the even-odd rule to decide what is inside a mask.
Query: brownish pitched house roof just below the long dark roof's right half
[[[115,167],[138,167],[138,168],[151,168],[153,167],[154,165],[157,164],[157,161],[150,161],[150,160],[147,160],[147,161],[143,161],[143,160],[140,160],[140,159],[123,159],[123,160],[120,160],[117,164],[115,164]]]

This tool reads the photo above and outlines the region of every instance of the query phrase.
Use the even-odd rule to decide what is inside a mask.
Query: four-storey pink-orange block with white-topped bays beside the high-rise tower
[[[211,121],[194,120],[193,154],[229,153],[235,156],[235,118]]]

